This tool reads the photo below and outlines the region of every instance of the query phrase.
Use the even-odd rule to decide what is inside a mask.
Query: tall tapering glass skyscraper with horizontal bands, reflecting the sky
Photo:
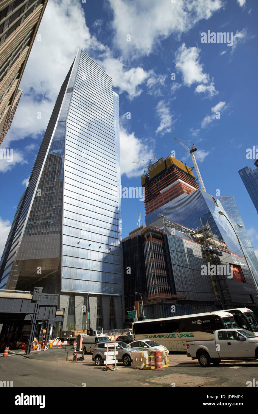
[[[60,293],[63,329],[122,326],[118,95],[79,50],[2,255],[0,287]],[[84,309],[85,310],[85,309]]]

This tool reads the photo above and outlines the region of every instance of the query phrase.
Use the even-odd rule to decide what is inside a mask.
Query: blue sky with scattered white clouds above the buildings
[[[49,0],[2,144],[13,149],[13,161],[0,160],[0,250],[60,86],[82,47],[119,94],[123,187],[140,186],[144,167],[133,161],[174,150],[192,166],[174,138],[195,143],[207,192],[234,195],[258,253],[257,212],[238,174],[255,168],[246,150],[258,147],[257,16],[253,0]],[[233,46],[201,43],[208,30],[233,33]],[[122,199],[123,237],[136,228],[140,213],[145,224],[144,202]]]

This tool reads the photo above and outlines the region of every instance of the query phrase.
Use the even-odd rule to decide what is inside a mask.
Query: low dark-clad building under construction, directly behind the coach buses
[[[209,223],[199,223],[190,229],[160,217],[123,239],[128,323],[135,292],[142,294],[147,318],[214,311],[221,303],[224,308],[256,306],[257,292],[244,258],[232,254]],[[212,265],[221,271],[209,271]]]

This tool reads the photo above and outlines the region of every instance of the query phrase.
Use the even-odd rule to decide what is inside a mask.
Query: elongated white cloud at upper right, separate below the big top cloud
[[[186,86],[190,87],[194,83],[200,84],[195,88],[195,92],[207,92],[209,96],[217,95],[213,79],[210,82],[210,75],[203,72],[199,53],[199,48],[195,46],[187,48],[183,43],[175,53],[176,69],[182,73],[183,83]]]

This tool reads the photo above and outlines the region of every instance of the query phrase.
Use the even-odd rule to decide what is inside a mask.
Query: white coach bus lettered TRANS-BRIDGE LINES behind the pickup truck
[[[133,340],[153,339],[169,351],[186,351],[188,339],[214,339],[217,329],[238,328],[225,310],[133,322]]]

